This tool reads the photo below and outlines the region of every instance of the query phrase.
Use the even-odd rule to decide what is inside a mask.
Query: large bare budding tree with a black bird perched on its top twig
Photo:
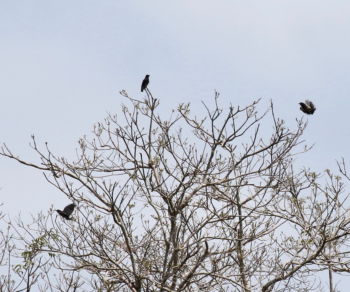
[[[74,221],[50,210],[35,225],[12,225],[27,256],[46,255],[35,265],[42,290],[323,291],[333,284],[319,273],[349,273],[341,178],[293,168],[309,150],[307,123],[290,131],[272,102],[261,115],[258,102],[222,110],[217,92],[202,117],[181,104],[164,120],[149,91],[144,100],[121,94],[132,103],[122,105],[124,121],[97,124],[76,161],[40,150],[34,136],[41,164],[2,147],[77,205]]]

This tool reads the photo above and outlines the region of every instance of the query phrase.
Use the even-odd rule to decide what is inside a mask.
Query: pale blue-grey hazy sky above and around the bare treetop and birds
[[[119,91],[160,100],[164,118],[181,103],[203,113],[214,90],[223,105],[272,99],[275,116],[296,129],[308,119],[300,166],[337,173],[350,164],[349,1],[3,1],[0,4],[0,142],[37,162],[31,135],[74,158],[77,140],[108,113]],[[306,116],[299,102],[311,100]],[[266,138],[272,133],[266,126]],[[40,171],[0,157],[0,207],[10,218],[67,198]]]

